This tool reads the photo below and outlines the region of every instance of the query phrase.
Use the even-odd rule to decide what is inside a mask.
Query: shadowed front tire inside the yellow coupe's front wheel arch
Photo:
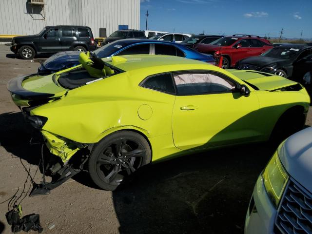
[[[303,129],[305,117],[301,108],[287,110],[276,122],[270,140],[279,144],[292,134]]]

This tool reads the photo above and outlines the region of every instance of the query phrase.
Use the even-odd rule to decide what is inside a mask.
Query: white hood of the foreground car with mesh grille
[[[312,193],[312,127],[287,138],[278,156],[288,174]]]

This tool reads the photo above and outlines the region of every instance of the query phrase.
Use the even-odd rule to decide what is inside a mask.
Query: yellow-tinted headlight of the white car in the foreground
[[[262,177],[264,187],[274,206],[277,208],[289,177],[279,159],[277,151],[270,159]]]

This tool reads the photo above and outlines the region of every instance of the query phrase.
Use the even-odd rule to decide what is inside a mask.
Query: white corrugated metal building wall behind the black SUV
[[[27,2],[0,0],[0,35],[33,35],[49,25],[84,25],[99,37],[99,28],[106,28],[109,36],[119,24],[140,26],[140,0],[45,0],[43,10]]]

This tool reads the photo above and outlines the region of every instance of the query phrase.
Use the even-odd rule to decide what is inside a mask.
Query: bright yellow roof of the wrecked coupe
[[[187,70],[186,65],[193,65],[192,67],[194,69],[209,69],[210,66],[216,67],[195,59],[185,59],[182,57],[168,55],[126,55],[113,56],[103,60],[126,72],[142,69],[146,69],[146,71],[151,72],[157,67],[158,69],[155,74],[165,72],[165,68],[168,67],[173,69],[174,67],[178,67],[177,70]],[[161,67],[164,69],[161,69]],[[183,67],[183,69],[181,69],[181,67]]]

